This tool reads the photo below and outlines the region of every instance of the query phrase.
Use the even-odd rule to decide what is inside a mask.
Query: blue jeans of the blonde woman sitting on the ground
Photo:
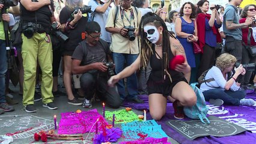
[[[209,89],[203,92],[204,98],[206,101],[209,101],[210,98],[212,99],[221,99],[224,101],[224,104],[231,104],[238,106],[240,105],[240,100],[245,98],[245,91],[223,91],[222,89]]]

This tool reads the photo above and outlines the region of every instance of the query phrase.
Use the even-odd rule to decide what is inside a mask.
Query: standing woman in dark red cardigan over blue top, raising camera
[[[214,65],[215,47],[217,43],[221,43],[219,28],[221,28],[222,23],[218,8],[218,5],[211,5],[212,14],[207,14],[209,1],[201,0],[197,3],[197,34],[202,52],[197,78]]]

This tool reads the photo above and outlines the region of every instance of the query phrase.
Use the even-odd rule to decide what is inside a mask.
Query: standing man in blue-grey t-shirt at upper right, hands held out
[[[223,30],[226,35],[225,52],[237,58],[237,62],[242,60],[242,30],[248,28],[254,22],[254,18],[246,19],[244,23],[239,23],[239,10],[237,6],[241,4],[240,0],[228,0],[229,4],[225,8],[223,16]]]

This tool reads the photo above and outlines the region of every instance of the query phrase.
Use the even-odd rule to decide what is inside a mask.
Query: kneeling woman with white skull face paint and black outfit
[[[185,79],[190,67],[183,47],[169,34],[165,22],[154,13],[147,13],[142,17],[139,35],[142,41],[138,58],[121,73],[112,76],[108,81],[109,85],[113,86],[118,80],[130,76],[141,65],[147,67],[150,62],[152,71],[147,83],[150,115],[156,121],[160,120],[166,112],[167,97],[170,97],[169,100],[174,106],[174,117],[183,119],[183,106],[194,106],[197,101],[195,92]],[[185,61],[176,65],[175,70],[171,70],[169,61],[177,55],[183,55]]]

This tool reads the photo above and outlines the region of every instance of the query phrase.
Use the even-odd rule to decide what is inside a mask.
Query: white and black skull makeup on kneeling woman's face
[[[156,26],[148,25],[144,27],[144,32],[147,35],[147,39],[155,44],[159,40],[159,32],[157,31]]]

